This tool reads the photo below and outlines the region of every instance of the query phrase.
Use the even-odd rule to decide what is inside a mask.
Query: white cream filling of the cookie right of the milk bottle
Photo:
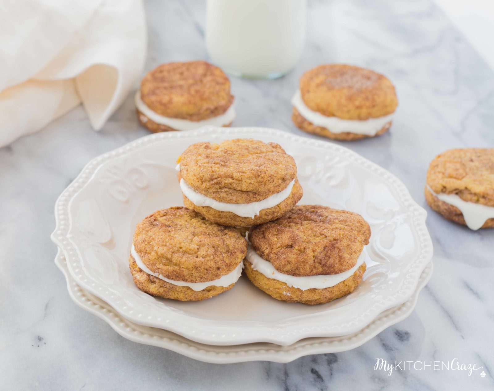
[[[291,98],[291,104],[295,106],[300,115],[309,122],[312,122],[316,126],[324,127],[332,133],[351,132],[374,136],[386,123],[393,119],[394,114],[391,113],[387,116],[363,120],[327,117],[309,109],[302,99],[300,90],[297,90],[295,95],[293,95],[293,98]]]

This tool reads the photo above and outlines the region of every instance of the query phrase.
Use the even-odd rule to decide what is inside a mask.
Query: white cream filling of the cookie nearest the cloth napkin
[[[146,106],[146,104],[141,99],[140,91],[137,91],[137,93],[135,94],[135,106],[142,114],[144,114],[152,121],[177,130],[197,129],[206,125],[224,126],[228,125],[235,119],[235,108],[233,107],[233,104],[223,114],[220,114],[216,117],[203,119],[202,121],[189,121],[188,119],[165,117],[154,112],[148,106]],[[146,122],[146,120],[146,118],[143,118],[143,122]]]

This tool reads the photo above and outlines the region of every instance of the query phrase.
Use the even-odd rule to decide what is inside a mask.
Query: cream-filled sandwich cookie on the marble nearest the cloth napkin
[[[162,64],[135,95],[139,122],[152,132],[229,126],[235,118],[230,80],[206,61]]]

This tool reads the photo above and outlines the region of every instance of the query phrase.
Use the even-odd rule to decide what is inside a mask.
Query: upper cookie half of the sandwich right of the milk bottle
[[[393,84],[369,69],[320,65],[300,78],[305,105],[327,117],[369,119],[392,114],[398,105]]]

